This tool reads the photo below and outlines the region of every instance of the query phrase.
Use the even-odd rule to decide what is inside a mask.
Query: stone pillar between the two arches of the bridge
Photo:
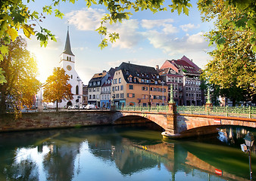
[[[176,103],[168,103],[169,109],[167,111],[167,129],[162,133],[164,138],[179,137],[180,134],[176,130]]]

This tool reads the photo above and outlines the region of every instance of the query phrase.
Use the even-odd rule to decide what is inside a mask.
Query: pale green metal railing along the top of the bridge
[[[168,106],[118,106],[121,111],[139,111],[139,112],[167,112]],[[238,118],[256,118],[255,106],[177,106],[177,113],[193,115],[220,115]]]

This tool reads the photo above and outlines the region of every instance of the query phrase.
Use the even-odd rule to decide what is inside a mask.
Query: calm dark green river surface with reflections
[[[145,125],[0,133],[0,180],[248,180],[247,130],[176,141]]]

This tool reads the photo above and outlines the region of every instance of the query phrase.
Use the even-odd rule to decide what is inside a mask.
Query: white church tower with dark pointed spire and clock
[[[61,54],[60,66],[63,68],[67,75],[70,76],[68,81],[71,84],[71,93],[73,94],[73,100],[62,100],[59,107],[67,108],[68,106],[82,106],[83,103],[83,82],[78,76],[75,69],[75,55],[71,51],[69,28],[67,27],[67,37],[65,42],[64,51]]]

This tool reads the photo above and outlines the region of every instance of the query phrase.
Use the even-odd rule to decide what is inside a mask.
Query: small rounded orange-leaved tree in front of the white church
[[[70,76],[60,67],[55,67],[53,74],[48,76],[46,80],[42,97],[46,103],[56,102],[56,112],[58,112],[58,103],[61,100],[73,100],[72,86],[68,84],[69,80]]]

